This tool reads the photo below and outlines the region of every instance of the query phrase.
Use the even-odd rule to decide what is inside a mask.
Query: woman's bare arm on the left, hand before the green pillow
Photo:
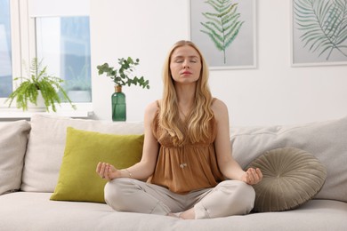
[[[142,157],[139,163],[125,170],[117,170],[109,163],[98,163],[96,172],[103,179],[111,180],[116,178],[148,179],[152,175],[157,163],[157,153],[159,145],[157,139],[151,131],[151,123],[157,112],[157,103],[150,103],[144,114],[144,143]]]

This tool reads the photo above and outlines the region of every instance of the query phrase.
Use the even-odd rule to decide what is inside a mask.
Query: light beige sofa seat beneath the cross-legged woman
[[[182,220],[112,211],[104,203],[50,201],[50,193],[0,196],[0,230],[334,230],[347,227],[347,203],[311,200],[292,211]]]

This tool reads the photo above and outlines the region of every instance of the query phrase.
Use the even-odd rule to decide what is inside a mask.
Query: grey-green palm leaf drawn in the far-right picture
[[[295,22],[303,31],[300,36],[303,47],[310,52],[326,55],[329,60],[333,52],[347,57],[347,0],[296,0]]]

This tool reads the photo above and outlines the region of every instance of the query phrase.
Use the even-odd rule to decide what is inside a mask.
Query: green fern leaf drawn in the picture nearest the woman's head
[[[225,51],[238,36],[238,32],[244,21],[240,21],[238,4],[232,4],[231,0],[208,0],[205,2],[214,8],[214,12],[202,12],[206,22],[200,22],[205,33],[214,42],[215,47],[223,52],[223,61],[226,63]]]

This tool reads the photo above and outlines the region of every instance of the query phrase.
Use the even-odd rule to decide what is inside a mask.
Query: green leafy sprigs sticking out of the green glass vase
[[[118,64],[120,65],[120,68],[118,69],[109,67],[109,63],[107,62],[97,66],[96,68],[99,70],[99,75],[105,73],[106,76],[109,76],[117,86],[139,84],[142,88],[149,89],[149,80],[145,80],[143,76],[140,78],[133,76],[135,66],[139,65],[139,62],[139,59],[133,60],[131,57],[128,57],[127,59],[118,59]]]

